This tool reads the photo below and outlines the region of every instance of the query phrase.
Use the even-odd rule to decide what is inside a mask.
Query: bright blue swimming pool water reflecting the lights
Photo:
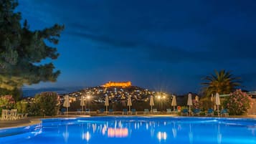
[[[0,129],[0,144],[256,144],[256,120],[217,117],[80,117]]]

